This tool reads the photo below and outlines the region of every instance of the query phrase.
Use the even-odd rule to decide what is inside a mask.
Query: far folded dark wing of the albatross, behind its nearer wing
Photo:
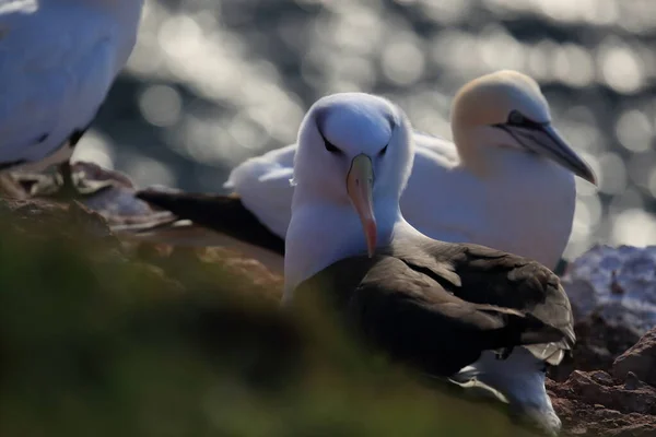
[[[414,249],[403,250],[410,247]],[[402,240],[394,251],[413,269],[437,277],[464,300],[512,308],[559,329],[561,341],[528,347],[549,364],[560,364],[563,352],[574,346],[567,295],[559,277],[539,262],[484,246],[454,245],[421,236]],[[460,283],[449,281],[441,274],[444,271],[456,273]]]

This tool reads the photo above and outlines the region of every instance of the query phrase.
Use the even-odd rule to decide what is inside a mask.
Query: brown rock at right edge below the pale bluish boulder
[[[656,328],[614,361],[612,375],[616,378],[624,379],[630,374],[656,387]]]

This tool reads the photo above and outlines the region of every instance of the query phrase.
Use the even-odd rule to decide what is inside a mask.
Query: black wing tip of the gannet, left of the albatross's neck
[[[144,190],[137,198],[244,243],[284,255],[284,240],[248,211],[236,194],[219,196]]]

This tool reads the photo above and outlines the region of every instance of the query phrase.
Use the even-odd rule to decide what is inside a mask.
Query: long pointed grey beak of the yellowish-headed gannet
[[[546,156],[574,175],[597,185],[597,177],[590,166],[567,144],[550,122],[537,122],[518,111],[511,113],[508,121],[494,125],[506,131],[527,150]]]

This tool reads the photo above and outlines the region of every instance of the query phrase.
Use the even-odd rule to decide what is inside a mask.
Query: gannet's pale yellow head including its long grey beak
[[[503,70],[478,78],[458,91],[452,107],[454,140],[465,163],[482,162],[494,150],[535,153],[597,184],[595,174],[551,126],[549,104],[538,83]]]

